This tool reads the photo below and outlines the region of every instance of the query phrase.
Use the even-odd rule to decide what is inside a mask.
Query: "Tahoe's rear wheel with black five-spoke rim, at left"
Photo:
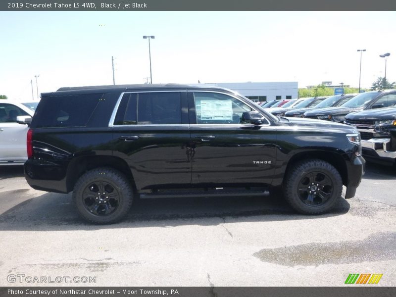
[[[82,218],[95,224],[120,221],[128,213],[133,190],[128,179],[112,168],[97,168],[83,174],[73,190],[73,201]]]

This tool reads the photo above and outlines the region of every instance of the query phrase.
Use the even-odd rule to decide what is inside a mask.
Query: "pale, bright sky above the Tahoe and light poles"
[[[100,26],[101,25],[101,26]],[[0,95],[32,99],[65,86],[322,81],[368,88],[396,80],[394,11],[0,12]]]

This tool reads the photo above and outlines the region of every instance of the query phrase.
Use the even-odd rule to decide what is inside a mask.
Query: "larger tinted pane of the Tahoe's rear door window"
[[[152,92],[138,95],[138,124],[181,124],[180,92]]]

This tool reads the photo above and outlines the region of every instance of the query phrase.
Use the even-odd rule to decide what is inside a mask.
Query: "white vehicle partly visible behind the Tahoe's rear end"
[[[0,99],[0,166],[22,165],[27,160],[28,126],[17,123],[17,117],[33,117],[38,103],[38,101],[15,102]]]

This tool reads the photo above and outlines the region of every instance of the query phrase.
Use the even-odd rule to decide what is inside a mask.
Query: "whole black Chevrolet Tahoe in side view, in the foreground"
[[[42,94],[27,136],[26,180],[69,193],[94,223],[122,219],[134,197],[269,194],[298,212],[354,196],[364,170],[350,126],[279,119],[233,91],[184,85],[61,88]]]

